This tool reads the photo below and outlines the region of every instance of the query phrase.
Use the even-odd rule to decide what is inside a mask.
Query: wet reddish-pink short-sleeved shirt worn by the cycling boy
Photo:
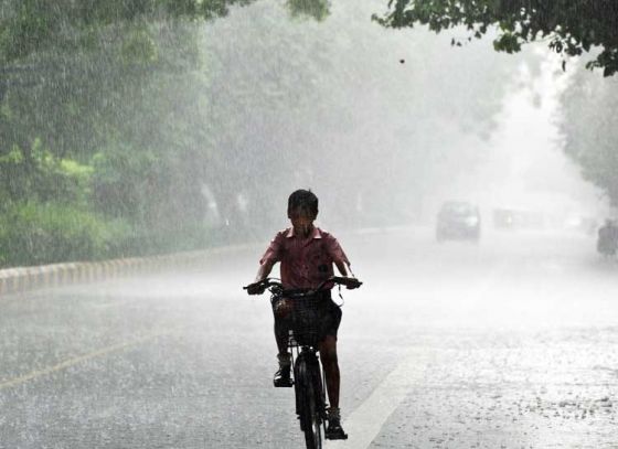
[[[278,232],[259,264],[267,260],[281,263],[285,289],[316,288],[333,276],[334,261],[350,265],[337,238],[319,227],[307,238],[295,235],[294,227]]]

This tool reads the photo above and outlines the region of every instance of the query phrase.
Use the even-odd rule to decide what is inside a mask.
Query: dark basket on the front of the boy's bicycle
[[[323,300],[320,297],[295,298],[291,309],[291,343],[300,346],[316,346],[321,340],[321,313]]]

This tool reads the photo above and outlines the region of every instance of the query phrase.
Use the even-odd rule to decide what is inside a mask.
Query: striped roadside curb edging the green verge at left
[[[0,298],[10,293],[95,282],[138,274],[156,272],[170,267],[190,267],[209,255],[254,247],[255,244],[233,245],[212,249],[174,253],[152,257],[130,257],[102,261],[79,261],[0,269]]]

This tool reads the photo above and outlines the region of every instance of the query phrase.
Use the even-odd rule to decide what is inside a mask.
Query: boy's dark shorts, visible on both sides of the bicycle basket
[[[322,291],[321,300],[317,310],[318,325],[320,335],[323,340],[326,336],[334,336],[341,323],[341,308],[334,303],[331,298],[330,290]],[[294,307],[294,299],[278,298],[273,301],[273,313],[275,316],[275,333],[277,336],[287,338],[288,330],[291,328],[291,318],[289,316],[288,304]]]

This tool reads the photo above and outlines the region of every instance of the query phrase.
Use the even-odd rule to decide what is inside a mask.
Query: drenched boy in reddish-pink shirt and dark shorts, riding
[[[348,276],[350,261],[331,234],[313,226],[318,216],[318,197],[308,190],[297,190],[288,199],[288,218],[291,227],[275,236],[266,253],[259,260],[256,280],[248,286],[249,295],[264,292],[258,282],[270,274],[273,266],[280,261],[281,284],[285,290],[309,290],[333,276],[334,264],[342,276]],[[350,287],[349,287],[350,288]],[[341,427],[339,410],[340,374],[337,359],[337,331],[341,322],[341,309],[332,301],[330,289],[320,292],[322,304],[318,311],[320,317],[319,343],[320,359],[324,368],[327,391],[330,400],[328,409],[328,439],[345,439],[348,436]],[[281,298],[273,303],[275,316],[275,339],[278,348],[279,370],[275,373],[276,387],[289,387],[291,354],[288,352],[287,320],[292,306],[291,300]]]

